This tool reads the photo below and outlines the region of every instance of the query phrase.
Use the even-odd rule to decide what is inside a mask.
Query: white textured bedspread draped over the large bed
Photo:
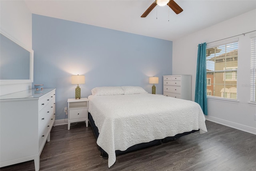
[[[198,103],[149,93],[90,95],[89,112],[99,130],[97,144],[108,153],[108,167],[115,150],[200,129],[207,132]]]

